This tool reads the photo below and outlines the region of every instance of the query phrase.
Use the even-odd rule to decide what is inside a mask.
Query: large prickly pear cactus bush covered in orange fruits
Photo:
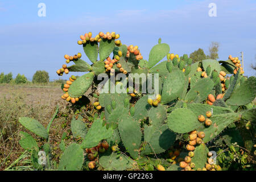
[[[119,38],[115,32],[100,32],[95,38],[89,32],[80,38],[78,44],[82,45],[92,64],[81,60],[81,53],[64,56],[66,63],[73,61],[75,64],[70,67],[63,65],[57,71],[58,75],[61,76],[63,69],[64,72],[65,69],[85,72],[85,75],[78,78],[71,76],[62,85],[64,94],[61,98],[75,104],[82,102],[79,100],[82,96],[90,94],[97,111],[90,127],[84,126],[82,114],[80,119],[72,120],[72,134],[81,137],[82,143],[73,143],[65,149],[59,169],[81,169],[86,159],[89,159],[86,162],[89,169],[138,169],[139,159],[156,155],[170,162],[169,166],[158,163],[155,168],[159,171],[164,171],[166,167],[167,170],[220,170],[218,164],[213,166],[208,162],[210,142],[220,137],[230,125],[236,125],[239,121],[255,121],[253,100],[256,78],[243,76],[240,61],[232,56],[227,61],[208,59],[193,63],[186,54],[179,56],[169,53],[168,44],[159,39],[147,61],[143,59],[138,46],[126,46],[120,40],[115,40]],[[161,61],[164,57],[167,60]],[[91,86],[98,86],[95,78],[101,73],[108,76],[113,73],[158,74],[159,86],[153,86],[154,95],[149,91],[144,93],[130,87],[126,89],[123,82],[115,80],[114,86],[122,85],[127,92],[100,93],[91,89],[92,93],[86,93]],[[148,81],[146,83],[150,84]],[[143,82],[139,85],[142,86]],[[240,107],[247,109],[241,111]],[[21,123],[24,125],[23,120]],[[188,137],[184,142],[181,138],[185,136]],[[179,142],[179,149],[170,152],[175,142]],[[112,147],[106,147],[105,143]],[[76,155],[70,154],[75,149]],[[182,156],[187,151],[188,155]],[[163,157],[166,152],[170,159]],[[84,153],[87,157],[83,157]],[[69,162],[71,159],[75,164]]]

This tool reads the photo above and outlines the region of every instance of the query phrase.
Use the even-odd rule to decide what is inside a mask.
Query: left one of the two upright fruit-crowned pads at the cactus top
[[[95,63],[98,59],[98,43],[96,42],[87,42],[83,44],[84,52],[92,63]]]

